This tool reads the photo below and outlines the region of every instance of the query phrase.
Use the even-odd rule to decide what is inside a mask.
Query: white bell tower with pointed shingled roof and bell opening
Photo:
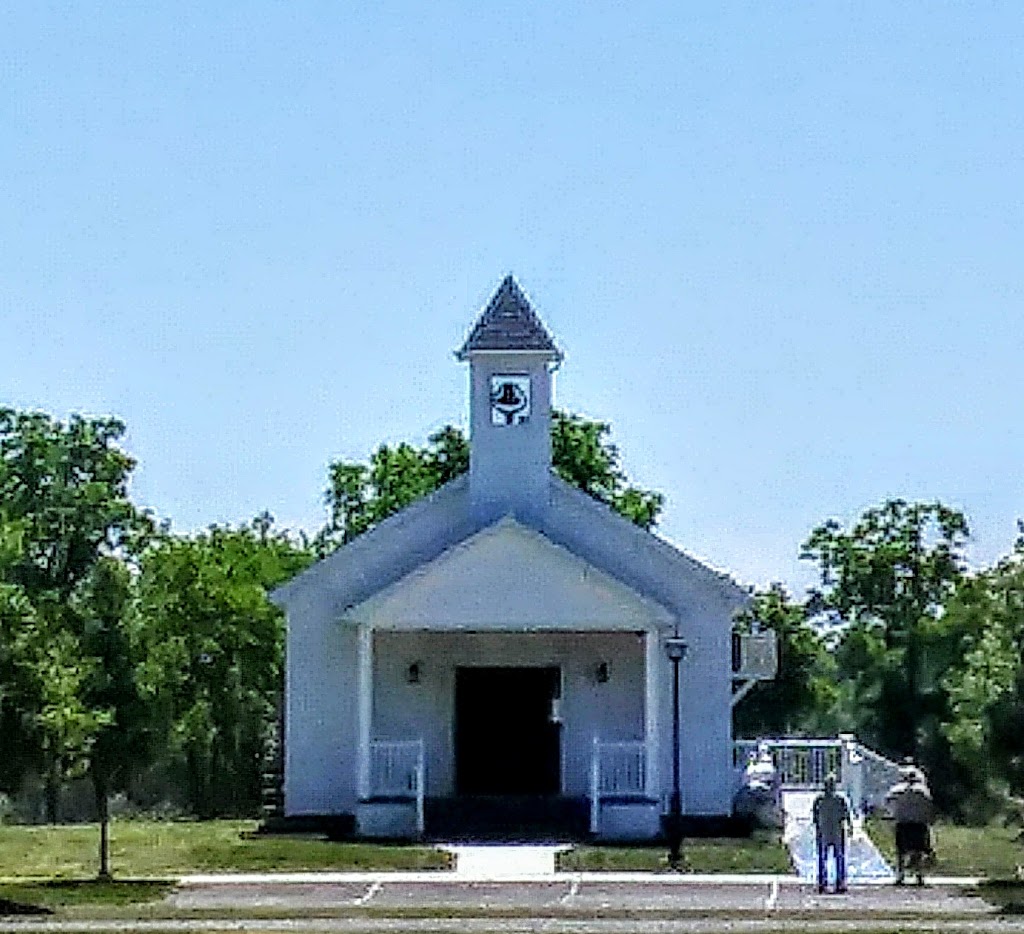
[[[542,511],[550,492],[551,376],[562,355],[511,275],[456,356],[469,362],[473,509]]]

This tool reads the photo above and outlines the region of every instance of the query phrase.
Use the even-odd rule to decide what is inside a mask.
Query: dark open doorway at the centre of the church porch
[[[456,669],[456,792],[559,794],[560,690],[557,668]]]

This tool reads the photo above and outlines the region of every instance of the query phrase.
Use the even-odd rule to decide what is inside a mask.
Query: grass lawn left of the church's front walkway
[[[447,855],[431,847],[242,836],[255,829],[251,820],[115,821],[111,868],[122,879],[163,879],[188,873],[449,865]],[[0,875],[8,881],[88,879],[96,875],[98,840],[95,824],[0,826]]]

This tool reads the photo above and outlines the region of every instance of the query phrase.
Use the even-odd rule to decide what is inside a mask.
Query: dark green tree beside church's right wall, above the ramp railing
[[[736,622],[739,632],[772,630],[778,639],[778,672],[758,684],[736,706],[737,735],[794,735],[831,731],[838,692],[835,662],[821,634],[808,622],[807,608],[794,602],[781,584],[755,595]]]

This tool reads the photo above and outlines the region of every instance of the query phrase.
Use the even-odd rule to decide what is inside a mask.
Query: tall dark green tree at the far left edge
[[[82,617],[76,592],[104,556],[137,552],[148,518],[128,498],[134,461],[118,447],[125,426],[113,418],[0,409],[0,507],[16,526],[19,547],[7,561],[9,585],[33,607],[24,645],[47,677],[41,705],[27,718],[39,733],[47,819],[56,819],[57,793],[69,768],[103,722],[79,690],[93,663],[82,655]]]

